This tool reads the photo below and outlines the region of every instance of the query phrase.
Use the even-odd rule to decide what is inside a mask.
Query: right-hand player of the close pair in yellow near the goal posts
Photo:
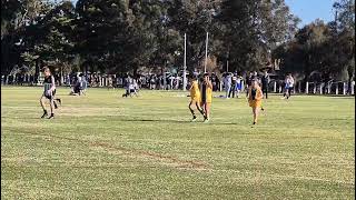
[[[212,101],[212,83],[209,80],[209,74],[204,74],[204,81],[200,84],[201,89],[201,107],[205,112],[204,122],[208,122],[210,119],[210,108]]]

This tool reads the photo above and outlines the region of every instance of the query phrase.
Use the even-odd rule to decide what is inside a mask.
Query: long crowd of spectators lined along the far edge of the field
[[[188,74],[187,74],[188,76]],[[250,86],[251,80],[256,79],[266,98],[268,98],[268,89],[271,87],[269,84],[270,78],[267,71],[257,72],[251,71],[249,73],[237,73],[237,72],[226,72],[222,77],[218,77],[215,73],[209,74],[209,79],[212,84],[212,91],[221,91],[226,92],[226,98],[238,98],[240,92],[247,91],[247,87]],[[61,86],[61,78],[59,74],[53,74],[56,79],[56,84]],[[62,78],[62,83],[65,86],[69,86],[73,88],[73,93],[78,93],[82,91],[81,89],[87,87],[109,87],[109,88],[135,88],[135,91],[139,89],[150,89],[150,90],[181,90],[184,89],[184,81],[182,76],[180,74],[139,74],[139,76],[129,76],[132,79],[131,86],[128,84],[127,78],[128,74],[98,74],[91,73],[87,76],[79,76],[78,73],[65,74]],[[105,79],[102,79],[105,78]],[[314,82],[319,82],[324,87],[323,93],[327,93],[328,88],[325,87],[328,84],[329,81],[333,81],[329,77],[322,76],[319,79],[318,77],[314,78]],[[295,87],[295,80],[291,74],[287,74],[285,79],[283,77],[275,78],[277,82],[277,87],[281,87],[284,91],[290,94],[291,90]],[[347,88],[347,92],[350,93],[350,88],[355,88],[355,81],[353,80],[350,87]],[[33,74],[10,74],[10,76],[1,76],[1,83],[2,84],[19,84],[19,86],[27,86],[27,84],[36,84],[37,79]],[[315,84],[315,83],[314,83]],[[314,86],[313,84],[313,86]],[[299,90],[304,89],[305,84],[299,87]],[[189,82],[187,81],[187,88],[189,89]],[[309,88],[310,89],[310,88]]]

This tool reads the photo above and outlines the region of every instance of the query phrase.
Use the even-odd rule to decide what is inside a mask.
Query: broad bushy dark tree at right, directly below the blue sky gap
[[[305,80],[313,71],[336,78],[347,70],[350,78],[355,70],[354,42],[350,31],[335,32],[333,26],[316,20],[301,28],[294,40],[279,46],[274,57],[283,59],[283,71],[301,72]]]

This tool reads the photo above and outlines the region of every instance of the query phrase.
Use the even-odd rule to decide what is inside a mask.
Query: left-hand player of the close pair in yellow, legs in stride
[[[198,109],[198,111],[204,116],[204,111],[200,108],[200,90],[199,90],[199,86],[198,86],[198,80],[195,76],[191,76],[190,78],[190,103],[189,103],[189,110],[192,114],[192,120],[191,121],[196,121],[197,116],[194,112],[194,106],[196,106],[196,108]]]

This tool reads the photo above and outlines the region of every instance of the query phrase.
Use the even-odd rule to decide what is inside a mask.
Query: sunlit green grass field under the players
[[[354,199],[355,98],[214,98],[209,123],[187,92],[89,89],[40,119],[42,88],[1,88],[3,199]]]

